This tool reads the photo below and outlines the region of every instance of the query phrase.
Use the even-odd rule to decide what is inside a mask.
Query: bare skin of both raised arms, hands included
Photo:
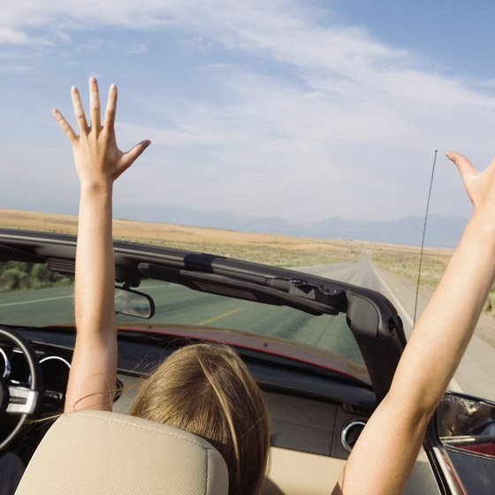
[[[110,87],[101,124],[95,79],[89,80],[90,123],[72,88],[79,135],[58,110],[57,122],[72,144],[80,179],[80,217],[74,304],[77,339],[65,412],[111,410],[117,372],[111,241],[113,182],[148,147],[123,153],[114,122],[117,88]],[[334,494],[401,493],[423,443],[426,425],[453,377],[495,277],[495,162],[483,173],[465,156],[447,153],[461,173],[474,206],[444,277],[415,326],[392,386],[354,446]]]

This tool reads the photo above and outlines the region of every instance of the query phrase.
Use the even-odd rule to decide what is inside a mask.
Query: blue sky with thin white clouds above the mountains
[[[73,122],[118,86],[129,205],[327,217],[468,217],[445,157],[495,155],[495,4],[455,0],[0,0],[0,208],[76,212]]]

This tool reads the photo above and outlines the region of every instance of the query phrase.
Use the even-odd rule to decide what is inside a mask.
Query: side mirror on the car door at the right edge
[[[495,458],[495,403],[447,392],[437,409],[443,446]]]

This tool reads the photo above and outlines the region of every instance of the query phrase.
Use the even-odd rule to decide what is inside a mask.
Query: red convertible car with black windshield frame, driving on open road
[[[266,494],[328,494],[392,381],[406,338],[380,293],[297,270],[115,242],[118,390],[177,347],[230,344],[270,411]],[[0,229],[0,453],[27,464],[63,410],[75,238]],[[35,420],[35,421],[33,421]],[[446,393],[407,493],[495,486],[495,404]]]

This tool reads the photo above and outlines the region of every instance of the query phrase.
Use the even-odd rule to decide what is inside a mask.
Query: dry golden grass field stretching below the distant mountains
[[[0,225],[48,232],[75,233],[77,217],[0,209]],[[378,267],[417,282],[419,247],[377,244],[350,240],[305,239],[286,235],[153,224],[115,219],[116,239],[145,241],[150,244],[185,248],[216,255],[268,263],[274,266],[309,266],[352,263],[371,252]],[[433,289],[446,268],[451,249],[426,248],[422,262],[421,285]],[[485,303],[484,312],[495,316],[495,288]]]

